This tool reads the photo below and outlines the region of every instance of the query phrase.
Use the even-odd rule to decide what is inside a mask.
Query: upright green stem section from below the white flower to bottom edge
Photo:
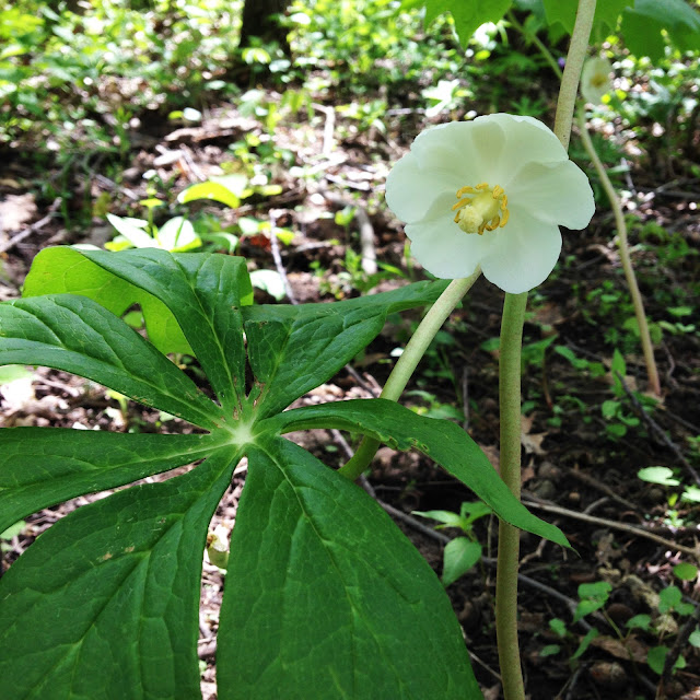
[[[506,294],[501,322],[499,401],[501,413],[501,479],[521,498],[521,347],[527,292]],[[495,632],[506,700],[524,700],[525,688],[517,643],[517,567],[520,529],[499,521],[495,573]]]

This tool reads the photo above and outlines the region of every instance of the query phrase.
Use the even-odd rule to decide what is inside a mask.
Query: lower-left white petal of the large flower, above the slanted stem
[[[436,199],[424,220],[406,226],[416,259],[435,277],[448,280],[469,277],[489,250],[486,235],[464,233],[454,222],[452,201]]]

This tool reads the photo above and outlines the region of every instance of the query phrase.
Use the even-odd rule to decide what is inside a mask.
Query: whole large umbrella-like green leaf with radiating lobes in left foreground
[[[67,499],[195,466],[79,508],[2,576],[3,700],[199,696],[202,551],[244,456],[219,698],[480,698],[433,571],[368,493],[282,436],[336,428],[419,450],[499,517],[565,546],[454,423],[386,399],[285,410],[350,362],[387,314],[431,304],[445,287],[257,306],[240,257],[42,252],[24,299],[0,304],[0,363],[72,372],[195,431],[0,430],[0,532]],[[133,304],[149,339],[120,318]],[[167,352],[195,355],[208,386]]]

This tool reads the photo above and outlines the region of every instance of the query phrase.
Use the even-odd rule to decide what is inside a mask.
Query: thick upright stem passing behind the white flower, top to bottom
[[[567,63],[559,89],[555,133],[569,150],[571,124],[581,69],[588,46],[596,0],[579,0]],[[521,347],[527,294],[506,294],[501,323],[499,399],[501,418],[501,478],[513,495],[521,495]],[[520,530],[499,523],[495,583],[495,630],[505,700],[525,700],[517,641],[517,568]]]

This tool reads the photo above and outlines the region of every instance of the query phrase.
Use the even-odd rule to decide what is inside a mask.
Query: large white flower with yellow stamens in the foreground
[[[552,131],[509,114],[420,133],[389,173],[386,201],[429,272],[457,279],[480,265],[513,294],[551,272],[559,225],[583,229],[594,211],[588,179]]]

